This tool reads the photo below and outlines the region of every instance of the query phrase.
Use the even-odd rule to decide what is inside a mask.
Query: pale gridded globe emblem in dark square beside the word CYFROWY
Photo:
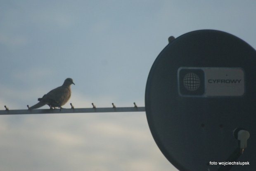
[[[200,78],[195,73],[187,73],[183,84],[188,91],[196,91],[200,87]]]

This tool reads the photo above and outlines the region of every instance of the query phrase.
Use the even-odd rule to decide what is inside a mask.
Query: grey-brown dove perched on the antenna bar
[[[49,105],[50,109],[52,108],[62,108],[62,105],[66,104],[71,97],[71,84],[73,80],[71,78],[67,78],[63,85],[53,89],[49,93],[45,94],[42,98],[38,98],[38,103],[31,106],[31,109],[37,109],[44,105]],[[74,84],[75,85],[75,84]]]

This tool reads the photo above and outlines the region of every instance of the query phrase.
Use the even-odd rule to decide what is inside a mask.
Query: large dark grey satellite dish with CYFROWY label
[[[238,37],[197,30],[171,38],[150,70],[145,110],[180,171],[256,170],[256,51]]]

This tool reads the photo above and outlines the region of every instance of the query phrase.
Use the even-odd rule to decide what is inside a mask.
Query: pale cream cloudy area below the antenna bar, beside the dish
[[[155,159],[161,153],[143,112],[4,116],[0,125],[1,170],[154,171],[171,166]]]

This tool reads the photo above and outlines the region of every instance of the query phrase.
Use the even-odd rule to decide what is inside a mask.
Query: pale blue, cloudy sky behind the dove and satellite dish
[[[144,106],[149,70],[169,36],[216,29],[255,48],[255,7],[254,0],[0,0],[0,110],[26,109],[67,77],[76,108]],[[1,116],[0,137],[5,171],[177,170],[145,112]]]

